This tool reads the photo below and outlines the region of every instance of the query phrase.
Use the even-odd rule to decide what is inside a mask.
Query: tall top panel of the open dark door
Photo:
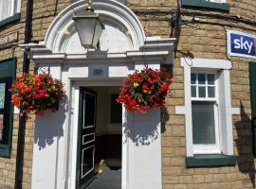
[[[85,94],[84,128],[95,126],[95,95]]]

